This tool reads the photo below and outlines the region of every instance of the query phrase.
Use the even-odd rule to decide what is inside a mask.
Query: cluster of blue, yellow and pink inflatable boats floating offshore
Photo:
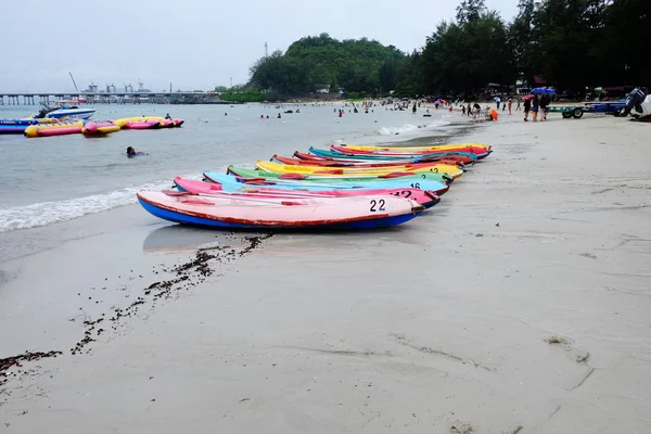
[[[178,128],[182,119],[159,116],[125,117],[116,120],[0,119],[0,133],[23,133],[25,137],[50,137],[81,133],[100,136],[120,129]]]

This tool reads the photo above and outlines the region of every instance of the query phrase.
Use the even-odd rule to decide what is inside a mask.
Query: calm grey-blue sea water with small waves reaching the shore
[[[186,120],[182,128],[26,139],[0,135],[0,232],[52,225],[136,202],[140,189],[169,188],[177,176],[252,166],[275,153],[290,156],[333,142],[427,142],[455,133],[458,114],[431,110],[346,113],[339,105],[97,105],[95,119],[154,115]],[[299,114],[282,114],[299,108]],[[0,106],[0,118],[31,115],[35,106]],[[269,115],[269,119],[260,119]],[[397,135],[396,135],[397,133]],[[127,158],[127,146],[148,156]]]

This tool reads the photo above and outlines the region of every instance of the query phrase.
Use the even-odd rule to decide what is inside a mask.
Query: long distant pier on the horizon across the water
[[[77,104],[220,104],[219,92],[0,92],[0,105]]]

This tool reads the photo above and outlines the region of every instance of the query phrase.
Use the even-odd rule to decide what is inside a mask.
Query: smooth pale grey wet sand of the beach
[[[0,431],[651,431],[649,129],[518,119],[393,230],[252,241],[128,206],[4,261],[0,358],[63,355],[10,370]]]

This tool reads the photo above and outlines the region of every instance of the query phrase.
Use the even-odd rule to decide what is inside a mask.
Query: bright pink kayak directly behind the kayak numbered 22
[[[240,191],[227,192],[220,183],[203,182],[193,179],[176,177],[174,183],[182,194],[183,192],[194,194],[208,194],[216,196],[243,196],[243,197],[352,197],[352,196],[374,196],[393,195],[416,201],[425,208],[436,205],[441,199],[432,191],[418,189],[349,189],[349,190],[327,190],[327,191],[296,191],[281,190],[257,187],[243,187]]]

